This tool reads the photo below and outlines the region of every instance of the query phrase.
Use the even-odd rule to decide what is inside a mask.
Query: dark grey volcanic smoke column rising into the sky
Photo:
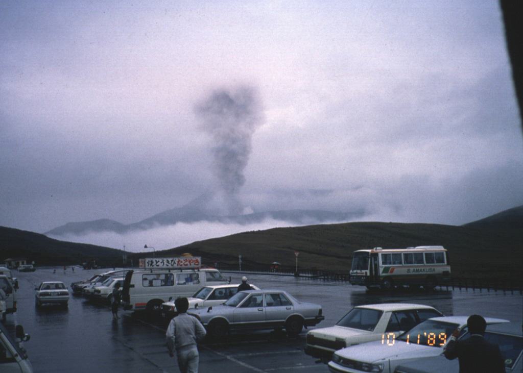
[[[218,89],[200,102],[196,113],[201,128],[212,137],[213,172],[224,193],[229,215],[243,213],[239,192],[245,183],[243,171],[251,154],[251,139],[264,116],[256,91],[240,87]]]

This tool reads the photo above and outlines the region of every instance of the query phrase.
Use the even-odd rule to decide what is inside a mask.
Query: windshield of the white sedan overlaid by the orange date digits
[[[409,344],[442,347],[447,343],[447,338],[450,338],[452,332],[458,327],[459,324],[456,323],[426,320],[403,333],[397,339]]]

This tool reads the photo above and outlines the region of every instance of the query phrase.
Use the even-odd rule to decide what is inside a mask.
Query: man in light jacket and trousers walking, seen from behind
[[[201,341],[207,332],[201,322],[187,314],[189,301],[187,298],[177,298],[174,301],[178,316],[170,320],[165,338],[169,356],[176,351],[178,368],[181,373],[198,373],[199,354],[196,341]]]

